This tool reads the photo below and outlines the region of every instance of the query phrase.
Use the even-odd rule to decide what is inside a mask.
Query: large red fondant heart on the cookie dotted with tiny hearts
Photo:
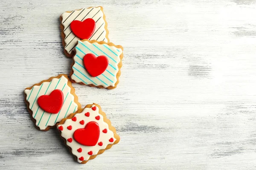
[[[84,128],[77,129],[73,136],[79,144],[95,146],[99,140],[99,124],[93,121],[89,122]]]

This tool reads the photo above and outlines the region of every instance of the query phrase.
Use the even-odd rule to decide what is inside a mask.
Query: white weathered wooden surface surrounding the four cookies
[[[103,6],[124,47],[114,90],[73,84],[121,140],[87,164],[37,130],[23,90],[69,74],[59,16]],[[256,0],[1,0],[0,169],[255,170]]]

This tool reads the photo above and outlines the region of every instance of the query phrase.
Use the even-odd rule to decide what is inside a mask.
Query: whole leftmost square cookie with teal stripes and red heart
[[[49,130],[81,108],[71,84],[67,75],[61,74],[25,89],[27,108],[40,130]]]

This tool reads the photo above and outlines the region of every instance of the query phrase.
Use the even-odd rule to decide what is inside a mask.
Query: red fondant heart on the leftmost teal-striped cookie
[[[48,113],[58,113],[63,105],[63,93],[61,90],[54,90],[50,95],[42,95],[38,98],[38,105]]]

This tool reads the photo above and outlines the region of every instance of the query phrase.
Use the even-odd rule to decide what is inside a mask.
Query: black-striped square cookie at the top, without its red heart
[[[61,37],[62,44],[64,46],[64,53],[67,57],[73,57],[73,51],[75,50],[77,40],[85,39],[79,38],[74,34],[70,26],[71,23],[74,20],[83,22],[90,18],[95,21],[95,29],[92,30],[93,32],[91,36],[89,35],[90,37],[86,39],[109,42],[108,24],[105,20],[105,14],[103,13],[103,8],[101,6],[64,12],[60,17]]]

